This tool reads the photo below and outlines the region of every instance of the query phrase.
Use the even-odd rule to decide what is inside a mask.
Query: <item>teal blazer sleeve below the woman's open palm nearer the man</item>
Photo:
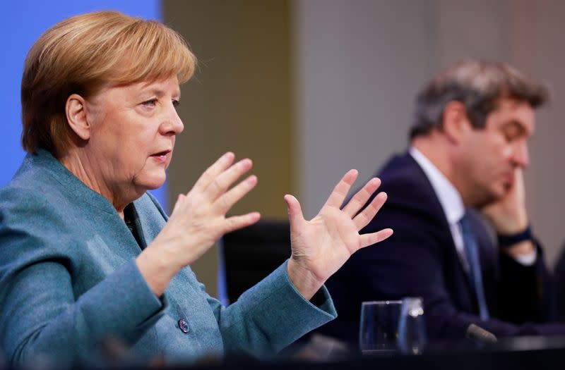
[[[218,321],[227,353],[271,356],[337,316],[325,286],[311,301],[302,297],[288,276],[286,261],[228,307],[210,297],[203,284],[200,287]]]

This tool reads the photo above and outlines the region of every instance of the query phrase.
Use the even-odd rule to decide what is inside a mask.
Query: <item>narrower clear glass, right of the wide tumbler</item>
[[[403,354],[421,354],[426,342],[422,298],[404,298],[398,321],[398,349]]]

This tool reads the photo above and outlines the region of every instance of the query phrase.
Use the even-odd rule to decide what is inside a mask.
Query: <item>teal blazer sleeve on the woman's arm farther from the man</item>
[[[0,343],[12,364],[92,363],[105,340],[133,342],[160,318],[165,304],[133,259],[77,297],[64,251],[79,245],[41,199],[9,198],[0,207]]]

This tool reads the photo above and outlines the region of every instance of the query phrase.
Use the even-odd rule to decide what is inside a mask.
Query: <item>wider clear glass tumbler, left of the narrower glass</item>
[[[398,338],[402,301],[371,301],[361,304],[359,349],[362,354],[393,354]]]

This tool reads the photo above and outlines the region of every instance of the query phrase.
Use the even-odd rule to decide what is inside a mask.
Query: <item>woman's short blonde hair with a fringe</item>
[[[22,78],[22,146],[59,158],[78,137],[66,121],[71,94],[89,97],[106,84],[177,75],[191,78],[196,57],[184,39],[155,20],[116,11],[86,13],[49,28],[33,44]]]

